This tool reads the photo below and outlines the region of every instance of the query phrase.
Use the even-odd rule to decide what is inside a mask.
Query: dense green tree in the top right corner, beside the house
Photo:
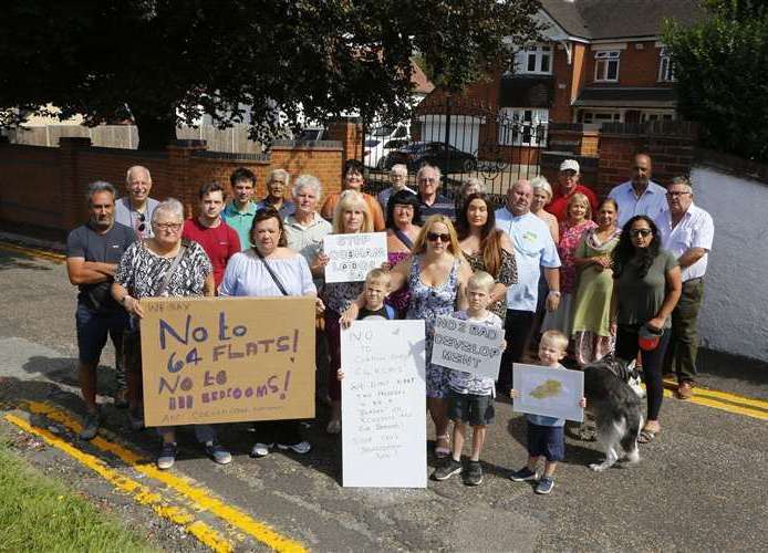
[[[693,27],[666,21],[677,106],[712,148],[768,160],[768,6],[707,0]]]

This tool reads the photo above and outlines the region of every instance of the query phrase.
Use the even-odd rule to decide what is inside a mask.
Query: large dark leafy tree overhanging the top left
[[[11,0],[0,8],[0,124],[46,104],[133,118],[143,149],[177,124],[252,107],[264,138],[343,112],[403,118],[411,56],[460,90],[536,33],[537,0]],[[14,108],[14,109],[10,109]],[[21,109],[21,111],[19,111]]]

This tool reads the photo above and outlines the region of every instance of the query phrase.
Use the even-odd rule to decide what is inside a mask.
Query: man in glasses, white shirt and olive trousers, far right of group
[[[693,396],[698,352],[698,311],[704,300],[704,274],[712,249],[715,225],[712,216],[694,205],[686,177],[675,177],[667,188],[670,210],[656,218],[662,248],[677,255],[683,271],[683,293],[672,312],[670,345],[664,372],[677,376],[677,397]]]

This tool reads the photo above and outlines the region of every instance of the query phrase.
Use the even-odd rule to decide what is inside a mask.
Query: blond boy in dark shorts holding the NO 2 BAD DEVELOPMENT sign
[[[502,331],[504,323],[495,313],[488,311],[494,278],[484,271],[471,275],[467,282],[467,311],[454,313],[456,319],[475,324],[496,326]],[[504,345],[502,345],[504,347]],[[482,482],[480,450],[486,439],[486,428],[494,421],[494,379],[475,376],[461,371],[449,372],[448,417],[454,421],[454,442],[452,456],[433,473],[435,480],[447,480],[463,472],[461,449],[467,434],[467,424],[473,428],[473,450],[464,483],[478,486]]]

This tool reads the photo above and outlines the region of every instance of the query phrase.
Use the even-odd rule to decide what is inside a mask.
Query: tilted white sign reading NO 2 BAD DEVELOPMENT
[[[460,321],[435,319],[432,362],[444,367],[497,379],[504,353],[504,328]]]

